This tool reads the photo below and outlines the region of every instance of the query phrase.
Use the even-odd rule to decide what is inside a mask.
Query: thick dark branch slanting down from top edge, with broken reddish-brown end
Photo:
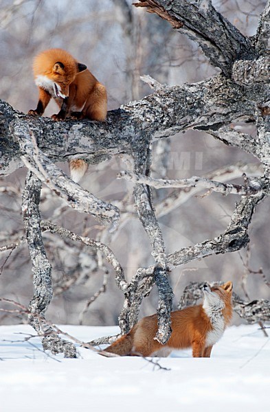
[[[219,67],[225,76],[231,76],[236,60],[256,55],[249,38],[218,13],[210,0],[139,0],[135,6],[146,7],[148,12],[158,14],[196,41],[212,65]]]

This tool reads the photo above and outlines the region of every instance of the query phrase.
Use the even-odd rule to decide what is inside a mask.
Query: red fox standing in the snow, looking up
[[[172,334],[165,345],[156,339],[157,314],[141,319],[106,352],[120,356],[168,356],[174,349],[192,347],[194,358],[210,358],[213,345],[221,339],[232,319],[232,282],[203,286],[202,305],[171,313]]]

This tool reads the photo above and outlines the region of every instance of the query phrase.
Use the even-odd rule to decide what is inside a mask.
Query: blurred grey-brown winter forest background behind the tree
[[[265,1],[215,0],[213,3],[243,34],[255,34]],[[174,32],[169,23],[158,16],[135,8],[131,0],[0,0],[0,40],[0,98],[23,113],[36,108],[38,98],[32,60],[38,52],[51,47],[66,49],[87,65],[106,86],[109,110],[151,93],[140,80],[139,76],[144,74],[173,85],[198,82],[218,73],[195,43]],[[45,115],[53,113],[57,113],[57,108],[51,102]],[[163,157],[162,163],[155,160],[156,153]],[[155,177],[203,176],[239,162],[256,163],[256,159],[203,132],[188,131],[153,144]],[[67,164],[60,166],[69,173]],[[131,213],[126,214],[115,236],[109,238],[95,220],[65,207],[46,188],[41,213],[44,220],[109,242],[126,278],[131,279],[139,266],[153,264],[153,258],[148,239],[132,208],[133,183],[116,179],[117,172],[123,169],[122,159],[115,157],[97,166],[91,165],[81,181],[83,187],[105,201],[117,204],[125,200],[122,204]],[[0,244],[8,244],[23,235],[21,192],[25,174],[26,169],[21,168],[0,179]],[[227,227],[238,201],[237,196],[225,197],[217,193],[192,196],[183,203],[176,203],[166,213],[164,200],[173,194],[174,190],[153,190],[167,253],[218,236]],[[203,194],[205,191],[201,191],[200,195]],[[249,271],[262,268],[269,279],[269,223],[269,203],[265,202],[258,207],[250,226],[249,251],[214,255],[172,271],[170,282],[175,292],[175,306],[185,285],[194,280],[232,279],[240,296],[269,298],[269,288],[262,276]],[[124,297],[114,283],[114,273],[99,263],[95,251],[51,233],[44,233],[44,242],[54,277],[54,298],[47,319],[55,323],[116,324]],[[1,253],[0,295],[27,305],[32,298],[31,267],[27,244],[11,254]],[[93,296],[102,288],[106,288],[106,293],[100,293],[95,299]],[[154,288],[144,299],[141,315],[155,312],[156,307]],[[14,316],[0,316],[0,323],[15,322],[18,319]]]

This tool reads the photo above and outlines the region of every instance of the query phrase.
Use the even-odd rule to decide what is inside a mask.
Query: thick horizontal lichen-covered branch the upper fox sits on
[[[18,121],[23,139],[25,133],[29,135],[30,127],[38,148],[51,161],[80,157],[93,164],[120,153],[139,153],[154,138],[192,128],[220,128],[237,119],[254,119],[254,101],[268,100],[269,87],[264,84],[244,90],[235,82],[216,76],[196,84],[162,89],[109,112],[106,122],[52,122],[47,117],[22,115],[0,101],[1,174],[22,166],[19,143],[14,139]],[[23,124],[27,127],[23,128]],[[20,135],[19,130],[17,134]]]

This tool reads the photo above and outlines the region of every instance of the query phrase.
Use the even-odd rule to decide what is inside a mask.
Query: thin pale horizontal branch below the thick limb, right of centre
[[[164,187],[203,187],[213,192],[221,194],[240,194],[244,196],[260,196],[262,193],[262,185],[260,181],[252,179],[249,185],[233,185],[232,183],[221,183],[212,181],[199,176],[192,176],[188,179],[153,179],[143,174],[135,174],[133,172],[121,171],[117,175],[118,179],[124,178],[133,183],[144,183],[146,185],[161,189]]]

